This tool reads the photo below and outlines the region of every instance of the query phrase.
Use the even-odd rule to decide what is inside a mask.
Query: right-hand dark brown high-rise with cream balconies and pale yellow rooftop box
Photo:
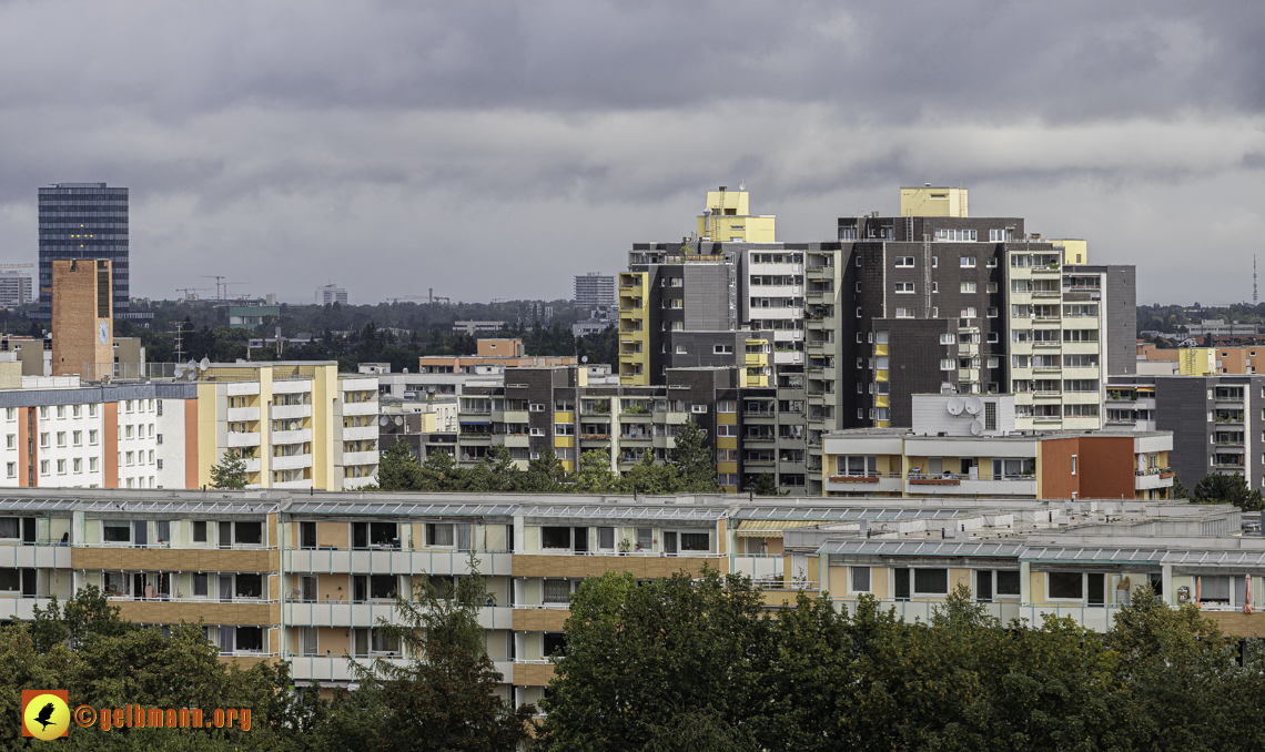
[[[1015,392],[1020,428],[1099,428],[1104,374],[1135,372],[1133,268],[969,217],[964,188],[902,188],[901,212],[839,219],[851,425],[908,426],[916,393]]]

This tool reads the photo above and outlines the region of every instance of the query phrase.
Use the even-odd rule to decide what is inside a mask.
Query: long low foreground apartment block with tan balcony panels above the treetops
[[[769,605],[796,590],[853,608],[863,594],[926,619],[965,584],[993,616],[1070,617],[1104,631],[1142,583],[1189,602],[1232,634],[1265,631],[1241,613],[1245,575],[1260,603],[1265,541],[1238,509],[1168,500],[803,500],[684,495],[216,493],[19,489],[0,500],[0,609],[33,618],[52,595],[104,589],[125,619],[205,621],[221,660],[287,660],[296,685],[349,686],[347,657],[404,661],[378,632],[412,578],[468,574],[497,691],[540,699],[562,647],[571,594],[588,576],[638,578],[703,565],[751,576]],[[1160,532],[1163,531],[1163,532]],[[61,545],[63,543],[65,545]]]

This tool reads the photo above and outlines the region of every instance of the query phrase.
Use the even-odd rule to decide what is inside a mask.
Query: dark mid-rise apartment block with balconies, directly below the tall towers
[[[455,449],[439,432],[419,440],[424,454],[453,451],[473,466],[505,445],[520,468],[552,452],[572,471],[579,455],[600,450],[625,473],[649,450],[665,461],[682,423],[693,418],[715,451],[721,488],[751,488],[772,475],[784,493],[807,493],[805,403],[774,387],[744,385],[737,367],[668,369],[667,384],[595,384],[582,368],[506,370],[505,384],[469,387],[459,398]],[[421,447],[419,447],[421,451]]]

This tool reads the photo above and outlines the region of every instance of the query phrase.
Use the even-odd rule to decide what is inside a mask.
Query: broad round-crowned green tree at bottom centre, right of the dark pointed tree
[[[544,741],[552,749],[640,749],[707,715],[710,742],[748,739],[768,703],[775,650],[750,581],[705,567],[638,583],[607,571],[581,583],[554,655]],[[670,742],[667,742],[670,743]],[[707,747],[701,747],[707,748]]]

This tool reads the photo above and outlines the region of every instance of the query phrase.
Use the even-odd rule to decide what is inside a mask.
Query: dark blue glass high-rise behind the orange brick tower
[[[113,267],[114,315],[130,302],[128,190],[105,183],[57,183],[39,188],[39,310],[53,316],[53,259],[106,259]]]

